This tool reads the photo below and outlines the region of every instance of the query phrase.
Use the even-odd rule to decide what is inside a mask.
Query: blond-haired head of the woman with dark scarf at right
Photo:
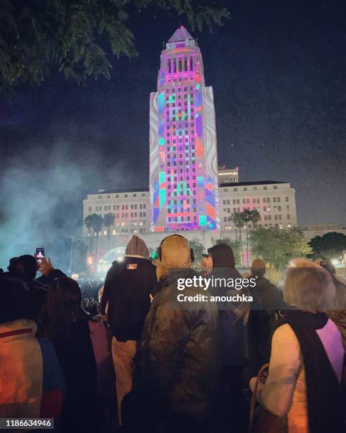
[[[294,259],[287,269],[283,295],[288,305],[314,313],[330,308],[335,287],[323,267],[306,259]]]

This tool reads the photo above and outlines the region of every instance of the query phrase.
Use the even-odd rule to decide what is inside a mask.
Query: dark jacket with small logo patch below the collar
[[[101,311],[119,341],[139,340],[150,308],[150,293],[155,285],[155,266],[149,260],[125,256],[113,262],[107,272]]]

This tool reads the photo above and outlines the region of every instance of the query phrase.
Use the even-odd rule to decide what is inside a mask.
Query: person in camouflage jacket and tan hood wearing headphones
[[[192,261],[186,238],[174,234],[162,241],[156,267],[162,289],[145,320],[136,359],[139,388],[145,390],[145,398],[138,400],[147,404],[139,411],[141,422],[161,420],[160,432],[165,433],[205,432],[215,386],[216,308],[203,300],[193,302],[191,308],[177,305],[178,293],[203,293],[198,287],[177,289],[179,279],[197,276]],[[148,412],[155,412],[155,420],[148,420]],[[146,427],[145,431],[155,431],[157,424]]]

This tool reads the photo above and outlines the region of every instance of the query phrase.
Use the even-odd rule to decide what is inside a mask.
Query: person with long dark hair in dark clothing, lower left
[[[66,381],[61,431],[95,432],[100,417],[97,405],[97,364],[90,337],[92,318],[81,307],[78,283],[68,277],[49,286],[40,333],[56,350]]]

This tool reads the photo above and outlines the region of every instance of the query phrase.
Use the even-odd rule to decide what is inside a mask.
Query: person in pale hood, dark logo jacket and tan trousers
[[[155,266],[149,261],[145,242],[133,235],[124,260],[112,263],[102,294],[101,313],[106,314],[112,332],[112,356],[116,372],[119,425],[121,402],[132,389],[133,357],[155,284]]]

